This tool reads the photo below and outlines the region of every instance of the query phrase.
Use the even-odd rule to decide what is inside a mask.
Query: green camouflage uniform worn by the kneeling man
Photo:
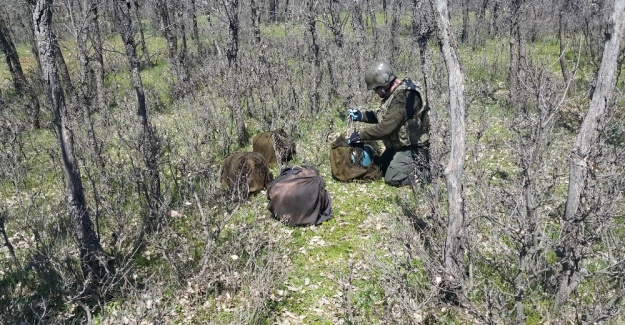
[[[415,89],[414,115],[406,112],[410,89]],[[363,122],[374,125],[360,132],[363,141],[382,140],[386,150],[381,166],[384,181],[393,186],[408,185],[409,176],[417,171],[421,181],[429,181],[429,119],[421,94],[410,79],[404,79],[377,111],[366,111]]]

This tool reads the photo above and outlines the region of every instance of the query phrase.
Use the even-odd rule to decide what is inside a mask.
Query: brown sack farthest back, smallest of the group
[[[252,140],[252,151],[265,158],[267,166],[286,163],[295,156],[295,142],[282,129],[263,132]]]

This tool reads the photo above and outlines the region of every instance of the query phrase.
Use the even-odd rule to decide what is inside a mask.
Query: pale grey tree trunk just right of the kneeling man
[[[464,194],[462,173],[465,148],[464,74],[460,66],[458,49],[451,33],[447,0],[436,0],[440,48],[447,66],[449,81],[449,113],[451,117],[451,152],[445,168],[449,221],[445,240],[445,279],[449,289],[458,290],[464,276]],[[452,292],[453,293],[453,292]]]

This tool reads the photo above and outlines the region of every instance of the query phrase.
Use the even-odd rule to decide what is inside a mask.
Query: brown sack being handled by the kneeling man
[[[369,165],[363,158],[369,157]],[[370,144],[352,147],[341,134],[332,142],[330,148],[330,167],[332,176],[339,181],[373,181],[382,177],[382,170],[376,163],[375,149]],[[366,166],[363,166],[366,165]]]

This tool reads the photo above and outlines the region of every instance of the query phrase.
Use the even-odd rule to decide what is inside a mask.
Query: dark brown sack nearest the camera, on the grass
[[[267,187],[267,208],[289,226],[318,225],[332,218],[330,194],[314,167],[288,167]]]

